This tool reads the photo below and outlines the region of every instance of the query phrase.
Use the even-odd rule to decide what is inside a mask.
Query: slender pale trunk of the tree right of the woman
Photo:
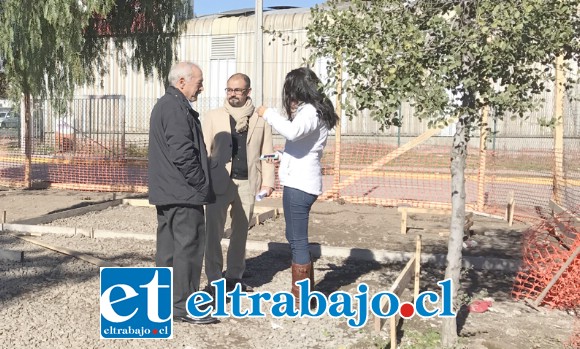
[[[460,117],[457,130],[453,136],[451,156],[451,227],[447,248],[447,269],[445,278],[451,279],[453,285],[452,298],[457,299],[457,290],[461,286],[461,249],[463,247],[463,226],[465,224],[465,163],[467,159],[468,119]],[[458,309],[455,309],[457,312]],[[445,348],[457,343],[457,319],[443,318],[441,329],[441,344]]]

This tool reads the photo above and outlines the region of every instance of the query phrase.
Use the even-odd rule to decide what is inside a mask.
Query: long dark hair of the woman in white
[[[312,104],[318,111],[318,117],[331,130],[338,122],[338,115],[330,99],[322,92],[322,83],[318,76],[309,68],[298,68],[292,70],[286,75],[284,89],[282,90],[284,99],[284,109],[292,120],[291,103],[308,103]]]

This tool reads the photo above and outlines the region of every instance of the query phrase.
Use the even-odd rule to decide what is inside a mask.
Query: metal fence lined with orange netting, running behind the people
[[[37,101],[30,160],[33,182],[69,189],[146,192],[149,116],[155,102],[123,96],[87,96],[74,99],[59,113],[47,101]],[[214,102],[202,98],[194,107],[203,118]],[[279,101],[272,101],[271,105],[276,103]],[[502,210],[507,193],[513,191],[520,203],[516,217],[530,217],[538,207],[548,207],[555,161],[562,159],[558,160],[563,161],[562,200],[567,207],[578,210],[580,137],[575,136],[578,130],[574,122],[565,128],[560,156],[554,153],[553,138],[526,128],[520,128],[517,135],[505,135],[505,124],[497,123],[499,132],[488,139],[484,151],[487,171],[483,180],[477,178],[481,152],[478,139],[473,138],[466,178],[468,204],[478,203],[485,196],[482,209],[497,213]],[[337,147],[331,136],[323,157],[325,188],[332,188],[338,181],[342,184],[334,196],[353,202],[448,206],[449,130],[434,132],[419,146],[383,161],[424,130],[423,125],[417,125],[408,133],[345,133],[338,163],[334,160]],[[26,159],[21,133],[21,129],[0,130],[0,184],[24,185]],[[275,136],[277,148],[283,147],[283,142]]]

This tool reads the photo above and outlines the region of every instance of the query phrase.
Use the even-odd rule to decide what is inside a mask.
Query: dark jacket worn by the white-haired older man
[[[167,88],[153,107],[149,127],[149,202],[215,202],[199,114],[181,91]]]

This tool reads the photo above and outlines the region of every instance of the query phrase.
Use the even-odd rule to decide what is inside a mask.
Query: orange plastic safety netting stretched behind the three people
[[[27,159],[21,139],[14,133],[3,139],[0,135],[0,184],[24,186]],[[451,138],[428,138],[405,148],[414,139],[407,137],[397,144],[387,137],[343,136],[340,146],[329,139],[322,157],[321,199],[449,208]],[[506,145],[483,152],[473,142],[465,170],[468,208],[501,216],[512,195],[516,219],[534,221],[546,214],[554,195],[554,152],[549,143],[534,146],[536,141],[517,140],[520,148]],[[46,133],[42,139],[32,140],[29,173],[32,182],[57,188],[146,192],[147,145],[143,133],[122,137]],[[276,148],[283,148],[283,143]],[[578,210],[580,203],[580,169],[574,165],[580,163],[578,149],[580,140],[574,140],[564,154],[559,181],[560,202],[570,210]],[[279,183],[277,189],[275,196],[280,196]]]

